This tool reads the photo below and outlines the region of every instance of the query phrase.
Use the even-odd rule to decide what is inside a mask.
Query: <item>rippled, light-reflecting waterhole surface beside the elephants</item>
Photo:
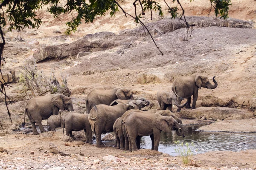
[[[178,140],[184,143],[189,142],[189,144],[194,142],[195,147],[191,147],[194,154],[216,150],[240,151],[256,149],[255,133],[212,133],[195,131],[200,127],[198,125],[184,125],[183,127],[185,138],[177,136],[175,131],[172,131],[172,133],[162,132],[158,151],[177,156],[177,153],[175,153],[177,146],[175,146],[174,141]],[[151,149],[149,136],[142,137],[141,147]]]

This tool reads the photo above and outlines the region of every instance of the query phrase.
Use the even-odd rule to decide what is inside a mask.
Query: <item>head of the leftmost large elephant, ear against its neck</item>
[[[63,94],[56,94],[54,97],[52,97],[52,103],[62,111],[74,111],[70,97],[64,96]]]

